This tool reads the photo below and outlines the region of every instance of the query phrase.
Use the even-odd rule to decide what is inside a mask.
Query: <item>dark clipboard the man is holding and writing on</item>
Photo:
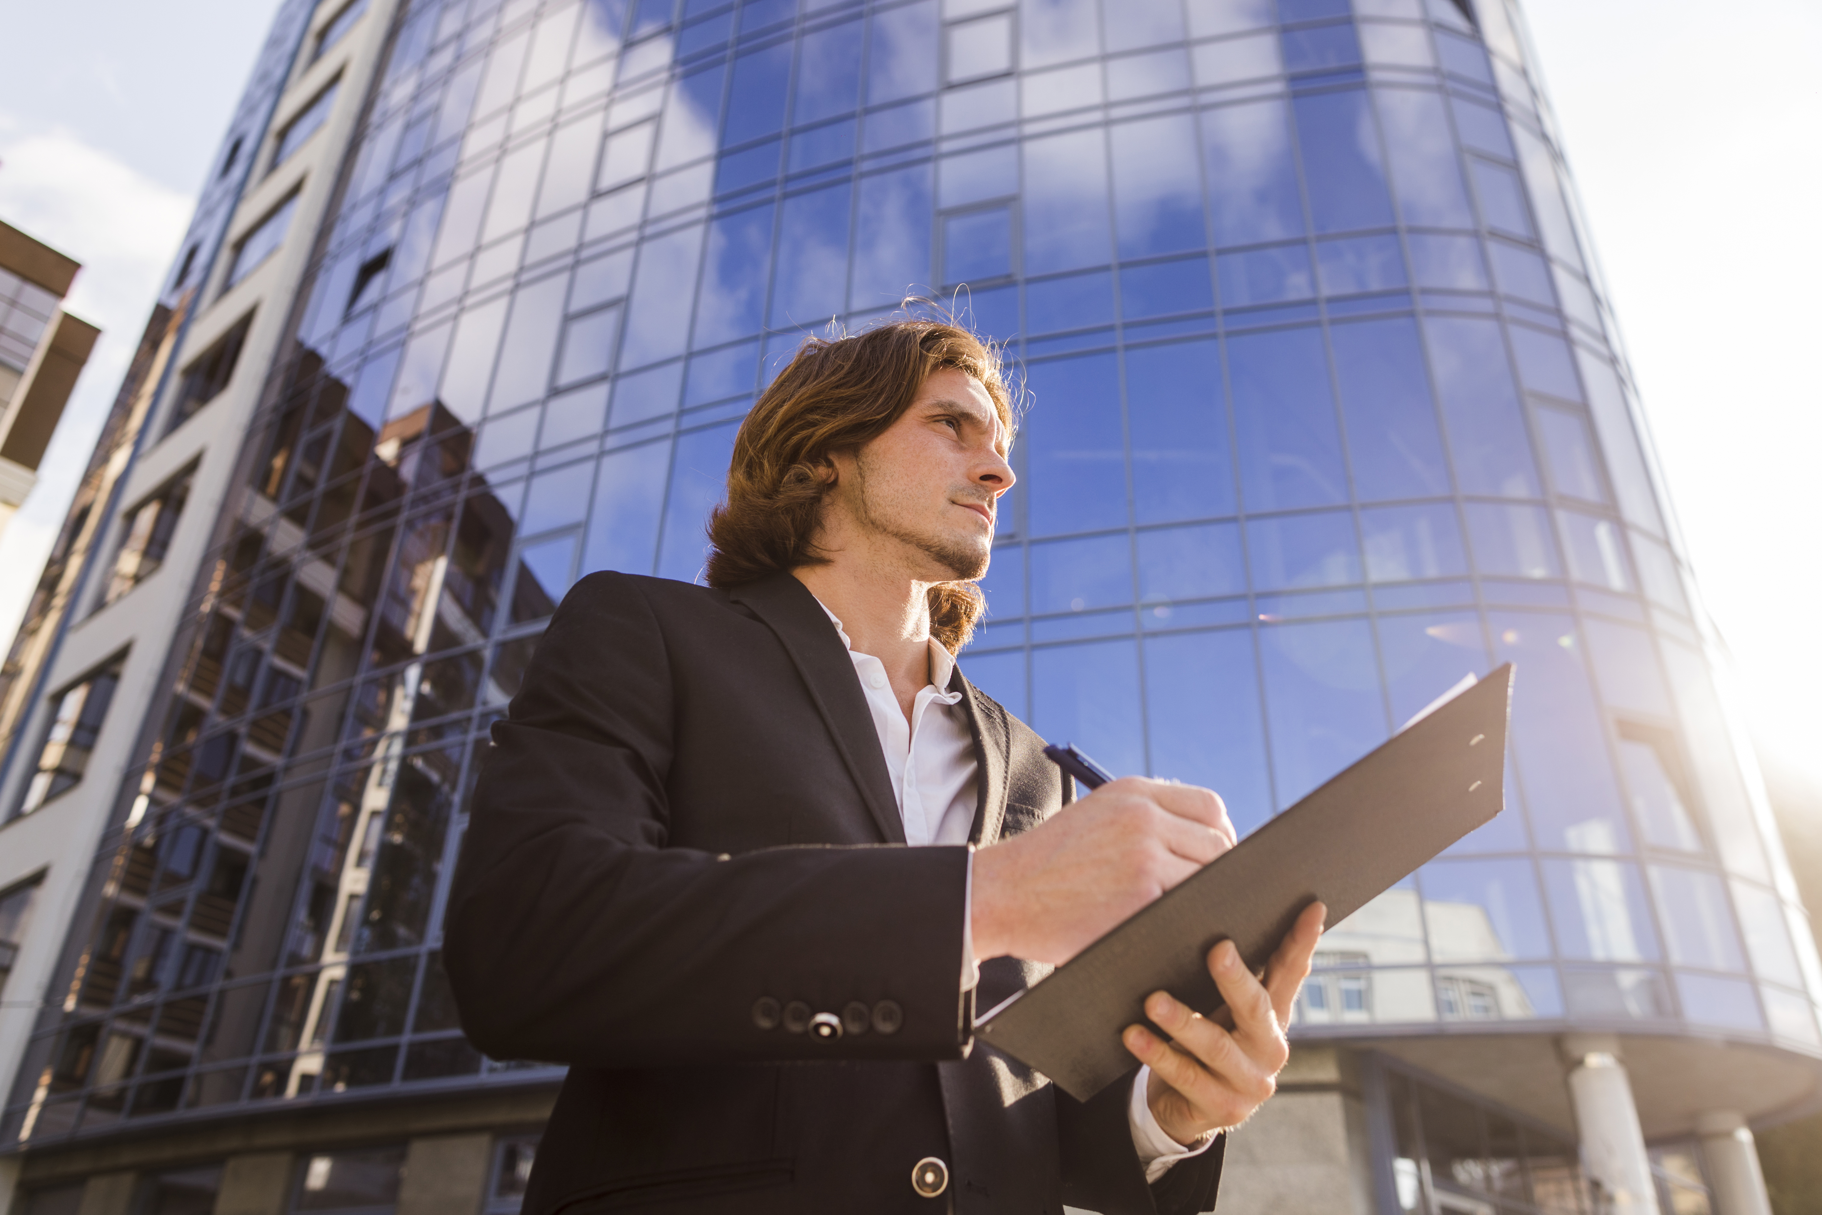
[[[1088,1100],[1137,1060],[1121,1044],[1170,991],[1221,1007],[1206,956],[1232,938],[1257,971],[1310,902],[1339,924],[1505,805],[1512,665],[1452,689],[1379,749],[1241,840],[1048,978],[989,1009],[975,1035]],[[1168,1035],[1166,1035],[1168,1036]]]

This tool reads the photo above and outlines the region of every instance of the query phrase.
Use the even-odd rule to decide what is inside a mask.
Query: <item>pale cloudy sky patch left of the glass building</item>
[[[277,0],[0,0],[0,219],[82,262],[102,328],[0,534],[0,645],[56,541]],[[22,53],[35,51],[35,53]]]

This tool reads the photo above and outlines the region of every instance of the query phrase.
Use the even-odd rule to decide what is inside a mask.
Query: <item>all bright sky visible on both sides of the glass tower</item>
[[[102,342],[0,536],[11,638],[275,0],[0,0],[0,219],[84,262]],[[1529,0],[1532,44],[1727,672],[1822,787],[1822,5]]]

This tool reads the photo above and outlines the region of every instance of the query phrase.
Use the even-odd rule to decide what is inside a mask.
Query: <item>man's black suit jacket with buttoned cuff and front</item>
[[[1057,812],[1071,787],[1042,740],[951,687],[973,840]],[[476,1046],[570,1066],[527,1215],[1210,1210],[1221,1146],[1148,1186],[1130,1082],[1079,1104],[971,1044],[975,1002],[1044,967],[998,958],[958,991],[966,874],[962,847],[904,847],[853,661],[802,583],[578,583],[494,725],[446,916]],[[938,1199],[913,1191],[922,1157],[949,1164]]]

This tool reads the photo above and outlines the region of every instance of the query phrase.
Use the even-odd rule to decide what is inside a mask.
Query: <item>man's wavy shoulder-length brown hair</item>
[[[907,319],[805,341],[734,437],[727,503],[709,514],[709,585],[827,563],[811,537],[834,485],[829,455],[884,434],[942,368],[980,381],[1009,441],[1017,417],[1000,352],[960,324]],[[984,610],[971,581],[929,588],[929,630],[951,654],[967,645]]]

